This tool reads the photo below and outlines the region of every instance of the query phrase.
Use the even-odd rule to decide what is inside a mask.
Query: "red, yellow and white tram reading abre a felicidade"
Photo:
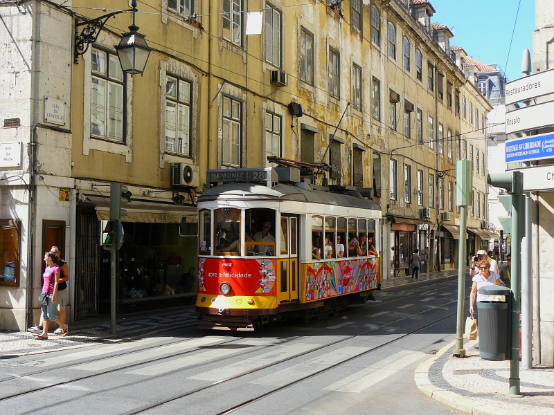
[[[207,179],[198,199],[202,328],[309,320],[380,288],[382,215],[372,200],[310,185],[288,167],[208,170]]]

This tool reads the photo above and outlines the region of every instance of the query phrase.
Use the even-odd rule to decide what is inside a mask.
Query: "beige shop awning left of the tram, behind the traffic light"
[[[90,194],[84,194],[84,196],[87,198],[84,203],[96,206],[96,217],[99,221],[109,220],[109,198]],[[167,201],[160,202],[132,200],[127,208],[125,208],[127,216],[123,216],[120,221],[134,223],[181,223],[183,216],[188,216],[187,223],[197,222],[195,206],[178,206]]]

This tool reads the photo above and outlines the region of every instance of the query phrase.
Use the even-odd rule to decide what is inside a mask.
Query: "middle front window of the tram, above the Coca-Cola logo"
[[[215,255],[240,255],[240,209],[214,210]]]

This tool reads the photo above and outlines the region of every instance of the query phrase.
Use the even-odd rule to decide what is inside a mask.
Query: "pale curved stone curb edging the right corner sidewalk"
[[[465,412],[466,414],[522,415],[521,412],[507,411],[506,409],[494,407],[493,405],[485,404],[479,402],[478,400],[455,394],[453,391],[448,391],[431,383],[431,380],[429,380],[429,369],[431,368],[431,365],[433,365],[435,360],[440,358],[440,356],[443,356],[449,349],[454,347],[455,344],[456,341],[447,344],[443,347],[443,349],[440,349],[435,356],[420,363],[418,368],[415,369],[413,380],[415,380],[415,385],[418,386],[418,389],[420,389],[420,391],[422,391],[425,395],[429,396],[429,398],[432,398],[437,402],[443,403],[444,405],[452,407],[458,411]]]

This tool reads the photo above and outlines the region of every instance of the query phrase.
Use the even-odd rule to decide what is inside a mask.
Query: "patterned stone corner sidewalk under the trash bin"
[[[454,342],[419,365],[415,383],[440,403],[467,414],[554,414],[554,367],[519,370],[523,398],[508,398],[510,361],[479,357],[479,339],[465,340],[466,358],[454,358]]]

